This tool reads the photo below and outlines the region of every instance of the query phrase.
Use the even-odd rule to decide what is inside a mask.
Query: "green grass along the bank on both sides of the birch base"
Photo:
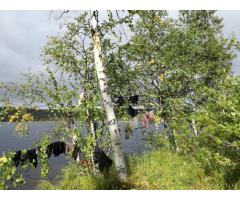
[[[109,173],[95,173],[77,164],[63,170],[58,185],[42,181],[41,189],[62,190],[110,190],[110,189],[147,189],[147,190],[192,190],[224,189],[221,176],[210,177],[201,165],[170,151],[161,149],[127,159],[128,183],[121,183],[114,167]]]

